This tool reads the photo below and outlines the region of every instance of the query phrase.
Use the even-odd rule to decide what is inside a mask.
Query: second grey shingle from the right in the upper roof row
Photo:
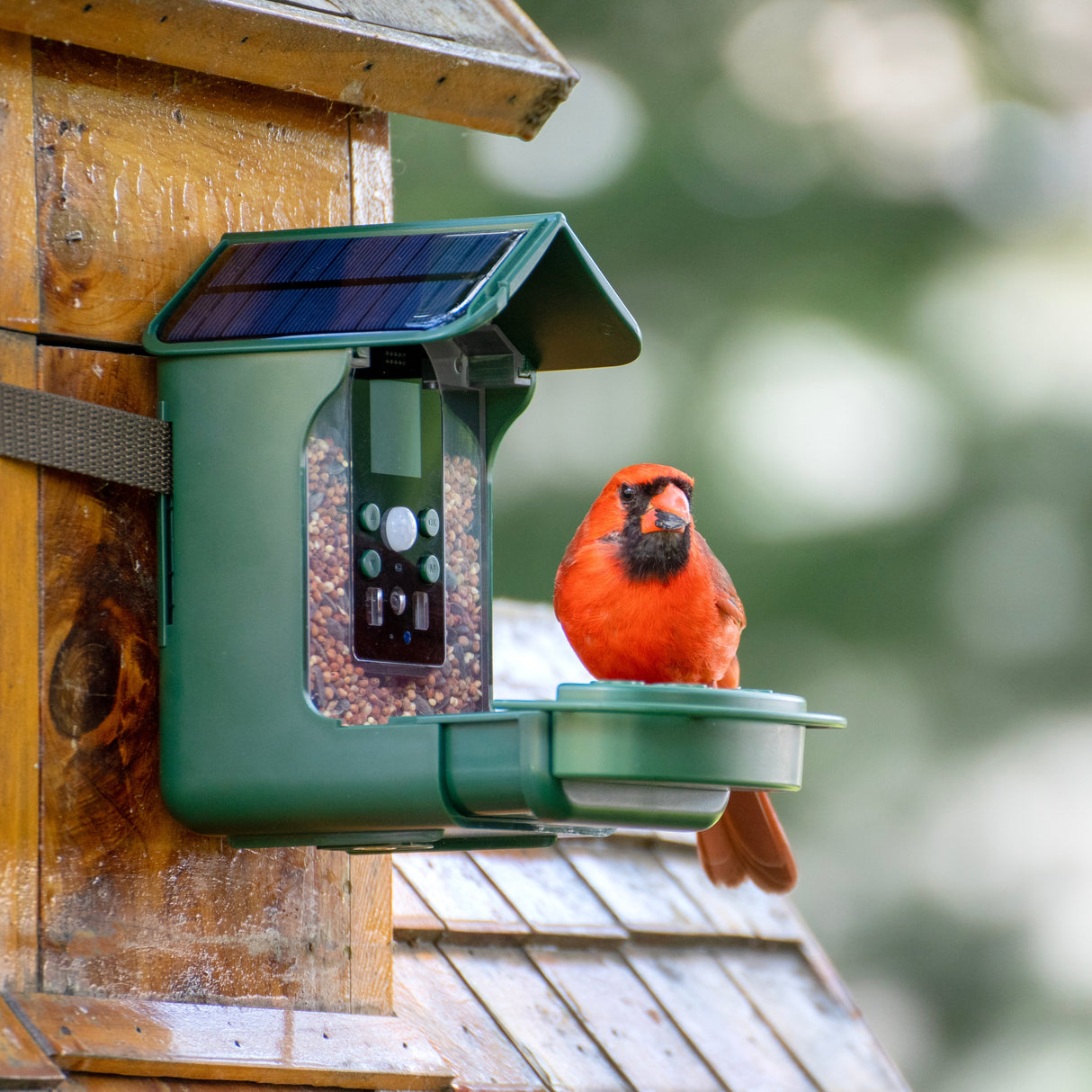
[[[559,848],[615,917],[637,937],[703,936],[712,923],[653,855],[625,839],[572,839]]]

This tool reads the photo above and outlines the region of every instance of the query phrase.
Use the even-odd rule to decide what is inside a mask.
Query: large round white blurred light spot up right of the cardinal
[[[759,534],[840,532],[921,514],[958,472],[927,380],[835,323],[790,319],[721,348],[712,458]]]

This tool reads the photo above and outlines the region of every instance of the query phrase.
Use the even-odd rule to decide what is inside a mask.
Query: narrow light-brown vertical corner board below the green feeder
[[[349,857],[349,994],[354,1012],[394,1011],[391,961],[391,858]]]

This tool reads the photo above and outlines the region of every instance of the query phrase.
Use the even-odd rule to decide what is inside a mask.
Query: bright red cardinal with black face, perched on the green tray
[[[739,686],[747,619],[732,579],[690,514],[693,478],[673,466],[626,466],[606,484],[565,551],[554,610],[600,679]],[[732,790],[698,834],[714,883],[750,877],[763,891],[796,883],[796,862],[770,797]]]

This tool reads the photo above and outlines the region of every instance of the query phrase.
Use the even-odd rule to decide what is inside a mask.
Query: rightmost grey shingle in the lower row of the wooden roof
[[[719,959],[824,1092],[909,1092],[860,1013],[827,993],[800,952],[732,951]]]

